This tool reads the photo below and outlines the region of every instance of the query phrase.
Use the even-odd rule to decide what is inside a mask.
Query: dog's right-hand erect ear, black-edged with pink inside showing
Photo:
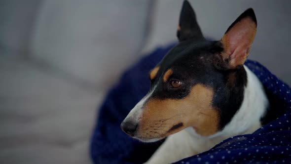
[[[223,48],[217,54],[215,65],[218,69],[240,68],[246,61],[255,39],[256,18],[252,8],[243,12],[227,29],[218,44]]]

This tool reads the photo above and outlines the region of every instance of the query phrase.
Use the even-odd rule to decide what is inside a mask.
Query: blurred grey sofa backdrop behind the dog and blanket
[[[247,8],[249,58],[291,84],[290,0],[189,0],[219,40]],[[134,62],[177,41],[182,0],[0,0],[0,163],[90,164],[97,107]]]

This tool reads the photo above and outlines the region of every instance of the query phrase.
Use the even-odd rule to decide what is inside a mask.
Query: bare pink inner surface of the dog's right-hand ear
[[[224,52],[223,59],[229,60],[229,67],[235,68],[244,64],[255,38],[256,24],[250,17],[246,17],[236,23],[222,37]]]

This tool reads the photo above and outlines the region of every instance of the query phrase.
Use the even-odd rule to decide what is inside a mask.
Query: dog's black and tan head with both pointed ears
[[[122,130],[152,142],[186,127],[202,136],[223,129],[244,98],[247,76],[242,66],[255,32],[255,13],[248,9],[220,41],[207,41],[184,1],[179,43],[149,72],[150,90],[121,123]]]

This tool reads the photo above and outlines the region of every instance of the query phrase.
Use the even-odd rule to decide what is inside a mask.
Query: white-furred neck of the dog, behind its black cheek
[[[239,110],[221,131],[206,138],[252,133],[261,126],[260,119],[266,112],[269,102],[264,88],[255,74],[246,66],[244,66],[244,69],[247,73],[247,86],[245,87],[244,99]],[[187,131],[195,137],[202,137],[193,128],[187,128]]]

